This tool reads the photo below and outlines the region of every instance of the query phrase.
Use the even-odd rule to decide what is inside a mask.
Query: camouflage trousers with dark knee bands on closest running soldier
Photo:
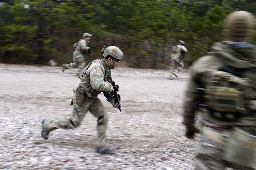
[[[44,123],[45,132],[51,132],[52,130],[62,129],[73,129],[80,125],[83,117],[89,110],[94,116],[98,117],[98,140],[97,147],[109,146],[108,139],[106,137],[106,129],[108,127],[108,114],[105,112],[103,105],[99,98],[88,99],[85,98],[82,105],[76,104],[77,93],[73,95],[73,111],[70,118],[59,118],[59,119],[46,119]]]

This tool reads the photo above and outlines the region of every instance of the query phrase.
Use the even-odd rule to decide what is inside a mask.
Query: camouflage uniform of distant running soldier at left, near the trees
[[[90,41],[85,38],[78,41],[75,50],[73,52],[73,63],[65,64],[65,69],[71,69],[78,67],[78,75],[86,67],[86,62],[84,60],[83,53],[90,50],[89,47]]]

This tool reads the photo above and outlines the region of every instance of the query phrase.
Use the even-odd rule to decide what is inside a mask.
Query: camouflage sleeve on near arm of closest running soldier
[[[104,67],[101,63],[93,63],[90,66],[91,86],[96,91],[110,91],[113,89],[111,83],[104,81]]]

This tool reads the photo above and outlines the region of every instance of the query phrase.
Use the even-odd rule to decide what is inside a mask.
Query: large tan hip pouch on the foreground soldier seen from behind
[[[256,136],[240,127],[234,127],[227,141],[225,160],[246,167],[256,168]]]

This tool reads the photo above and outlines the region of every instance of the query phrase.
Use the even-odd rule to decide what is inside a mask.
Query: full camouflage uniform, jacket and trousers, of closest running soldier
[[[109,62],[105,59],[94,60],[88,64],[86,68],[80,74],[80,82],[78,87],[86,92],[83,103],[78,106],[77,95],[78,92],[74,88],[75,92],[73,95],[73,111],[70,118],[60,118],[60,119],[46,119],[42,125],[44,133],[48,134],[52,130],[63,128],[63,129],[73,129],[80,125],[83,117],[89,110],[94,116],[98,117],[98,147],[109,146],[108,139],[106,138],[106,129],[108,127],[108,114],[104,110],[100,99],[97,97],[102,91],[104,95],[113,90],[111,83],[104,79],[106,70],[111,69]],[[78,88],[77,87],[77,88]]]

